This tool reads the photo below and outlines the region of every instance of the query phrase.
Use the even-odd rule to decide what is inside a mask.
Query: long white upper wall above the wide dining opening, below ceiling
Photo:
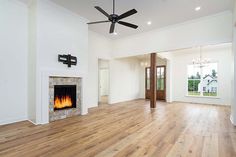
[[[127,57],[232,41],[232,13],[172,25],[114,41],[113,56]]]

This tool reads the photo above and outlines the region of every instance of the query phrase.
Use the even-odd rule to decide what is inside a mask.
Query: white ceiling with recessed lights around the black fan
[[[51,0],[90,21],[107,20],[94,6],[112,12],[112,0]],[[195,8],[201,6],[196,12]],[[109,34],[110,23],[90,25],[89,29],[109,38],[121,38],[152,29],[232,10],[233,0],[116,0],[116,13],[122,14],[135,8],[138,13],[123,21],[137,24],[137,30],[116,25],[117,36]],[[152,21],[148,26],[147,21]]]

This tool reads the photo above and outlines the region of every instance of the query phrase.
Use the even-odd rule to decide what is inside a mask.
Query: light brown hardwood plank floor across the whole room
[[[47,125],[0,126],[0,156],[235,157],[230,108],[137,100]]]

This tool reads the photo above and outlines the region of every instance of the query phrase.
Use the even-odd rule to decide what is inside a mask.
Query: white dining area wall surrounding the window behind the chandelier
[[[199,58],[199,48],[169,52],[172,56],[173,101],[231,105],[231,50],[231,44],[207,46],[202,49],[203,58],[209,58],[212,61],[218,62],[217,99],[187,96],[187,65],[191,64],[193,59]]]

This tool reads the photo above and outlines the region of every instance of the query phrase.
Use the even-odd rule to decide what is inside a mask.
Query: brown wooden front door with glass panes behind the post
[[[157,100],[166,100],[166,66],[157,66]],[[145,70],[145,98],[150,99],[150,68]]]

